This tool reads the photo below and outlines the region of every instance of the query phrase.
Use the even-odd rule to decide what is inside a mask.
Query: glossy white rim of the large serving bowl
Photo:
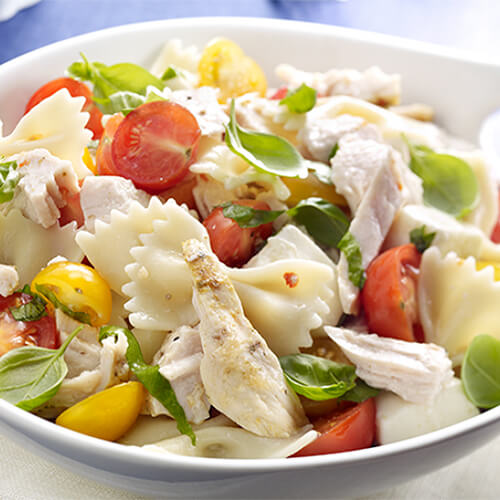
[[[335,25],[321,23],[285,20],[275,18],[257,18],[257,17],[182,17],[175,19],[163,19],[156,21],[145,21],[140,23],[129,23],[120,26],[100,29],[89,33],[73,36],[65,40],[57,41],[25,54],[19,55],[0,64],[0,80],[4,71],[10,70],[18,64],[23,64],[25,60],[33,57],[45,57],[54,50],[64,49],[67,45],[96,42],[99,39],[113,37],[114,35],[125,32],[143,32],[148,28],[168,28],[168,27],[206,27],[217,25],[219,29],[226,26],[234,27],[235,24],[249,29],[272,29],[276,31],[291,31],[299,33],[326,34],[348,41],[360,41],[387,48],[403,49],[415,54],[425,54],[437,56],[440,58],[451,59],[454,61],[467,63],[469,65],[489,66],[500,70],[500,62],[492,57],[479,53],[465,51],[444,45],[438,45],[429,42],[411,40],[403,37],[375,33],[354,28],[345,28]],[[261,458],[261,459],[228,459],[228,458],[204,458],[189,457],[169,453],[154,453],[143,450],[140,447],[122,445],[119,443],[108,442],[80,434],[49,422],[34,414],[21,410],[12,404],[0,399],[0,423],[5,423],[11,428],[21,433],[20,428],[32,429],[27,437],[30,440],[34,435],[43,436],[44,440],[49,439],[52,443],[50,449],[55,450],[54,445],[70,446],[76,450],[84,448],[87,452],[93,454],[106,455],[112,454],[117,461],[127,464],[132,462],[141,463],[142,466],[152,466],[162,468],[173,466],[175,468],[191,468],[196,471],[204,472],[227,472],[254,474],[254,473],[272,473],[279,471],[293,471],[295,469],[308,469],[322,466],[349,465],[353,463],[370,462],[381,460],[388,456],[394,457],[410,451],[430,448],[440,444],[443,441],[459,437],[478,431],[500,420],[500,407],[493,408],[480,415],[471,417],[462,422],[433,431],[427,434],[405,439],[396,443],[374,446],[367,449],[349,451],[329,455],[317,455],[309,457],[295,457],[292,459],[283,458]],[[6,436],[10,438],[10,436]],[[45,448],[47,446],[44,445]]]

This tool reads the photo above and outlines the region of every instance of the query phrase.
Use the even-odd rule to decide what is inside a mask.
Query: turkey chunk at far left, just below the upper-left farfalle
[[[45,149],[34,149],[8,158],[16,161],[20,180],[14,198],[3,210],[18,208],[23,215],[44,228],[59,219],[66,205],[65,195],[78,193],[78,178],[71,162],[61,160]]]

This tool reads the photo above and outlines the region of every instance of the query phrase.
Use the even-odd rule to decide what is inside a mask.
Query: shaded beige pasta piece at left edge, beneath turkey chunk
[[[76,232],[75,222],[44,229],[17,209],[0,214],[0,262],[16,266],[21,284],[30,283],[58,255],[72,262],[83,259],[75,243]]]

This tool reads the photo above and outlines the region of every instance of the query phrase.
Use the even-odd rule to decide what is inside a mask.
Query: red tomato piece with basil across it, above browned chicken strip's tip
[[[269,210],[269,205],[263,201],[238,200],[234,203],[257,210]],[[269,238],[273,231],[271,223],[242,228],[234,220],[224,217],[222,207],[212,210],[203,225],[207,228],[215,255],[231,267],[245,264],[255,251],[257,243]]]

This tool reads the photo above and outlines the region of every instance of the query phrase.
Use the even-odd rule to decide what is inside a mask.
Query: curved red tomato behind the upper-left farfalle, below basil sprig
[[[85,97],[85,105],[83,106],[83,111],[87,111],[88,113],[90,113],[90,118],[87,122],[86,128],[93,132],[94,135],[92,139],[99,139],[103,131],[103,127],[101,124],[102,113],[92,100],[92,92],[87,87],[87,85],[79,82],[78,80],[73,80],[73,78],[57,78],[46,83],[45,85],[42,85],[31,96],[28,104],[26,104],[24,113],[26,114],[31,108],[61,89],[67,89],[70,95],[72,95],[73,97]]]

